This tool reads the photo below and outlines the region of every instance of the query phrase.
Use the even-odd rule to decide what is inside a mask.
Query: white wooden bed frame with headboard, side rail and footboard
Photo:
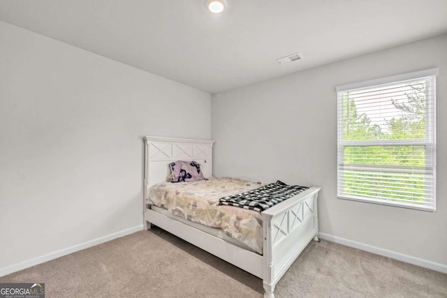
[[[263,211],[263,255],[247,251],[151,209],[149,188],[166,181],[168,163],[197,161],[206,177],[212,175],[211,140],[144,137],[144,226],[162,228],[217,257],[263,279],[265,298],[312,239],[319,241],[316,199],[321,188],[311,187]]]

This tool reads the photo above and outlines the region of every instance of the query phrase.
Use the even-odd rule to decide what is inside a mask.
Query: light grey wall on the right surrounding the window
[[[214,94],[214,175],[322,186],[318,215],[326,237],[447,272],[446,53],[447,35],[438,36]],[[432,67],[440,71],[437,211],[337,199],[335,87]]]

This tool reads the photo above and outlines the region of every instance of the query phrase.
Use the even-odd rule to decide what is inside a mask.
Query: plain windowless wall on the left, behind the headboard
[[[142,228],[142,136],[210,138],[210,105],[0,22],[0,275]]]

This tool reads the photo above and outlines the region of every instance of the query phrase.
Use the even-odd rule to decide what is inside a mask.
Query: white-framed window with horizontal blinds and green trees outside
[[[337,87],[337,196],[434,211],[438,69]]]

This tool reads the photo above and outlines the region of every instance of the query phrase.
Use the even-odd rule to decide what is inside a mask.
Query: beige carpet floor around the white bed
[[[262,281],[153,228],[0,278],[45,283],[47,298],[263,297]],[[275,297],[447,297],[447,274],[312,241]]]

